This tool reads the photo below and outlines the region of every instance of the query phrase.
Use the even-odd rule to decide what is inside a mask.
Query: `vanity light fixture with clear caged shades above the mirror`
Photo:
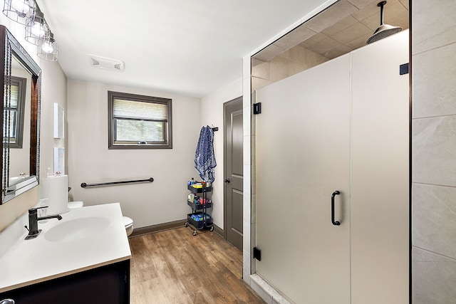
[[[58,46],[35,0],[4,0],[3,14],[26,26],[26,41],[37,46],[39,58],[58,60]]]

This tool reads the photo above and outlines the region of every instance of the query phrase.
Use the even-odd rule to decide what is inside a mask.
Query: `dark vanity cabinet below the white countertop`
[[[130,260],[0,293],[4,298],[16,304],[130,303]]]

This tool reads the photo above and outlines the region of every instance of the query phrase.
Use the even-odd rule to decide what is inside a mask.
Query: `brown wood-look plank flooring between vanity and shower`
[[[132,304],[265,303],[242,281],[242,252],[214,232],[182,227],[129,241]]]

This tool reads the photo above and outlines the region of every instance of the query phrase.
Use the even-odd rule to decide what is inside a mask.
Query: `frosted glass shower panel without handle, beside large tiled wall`
[[[352,52],[352,303],[408,303],[408,31]]]

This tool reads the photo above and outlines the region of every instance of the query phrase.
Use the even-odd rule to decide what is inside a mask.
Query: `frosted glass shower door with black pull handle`
[[[350,303],[350,54],[261,88],[257,102],[257,273],[294,303]]]

